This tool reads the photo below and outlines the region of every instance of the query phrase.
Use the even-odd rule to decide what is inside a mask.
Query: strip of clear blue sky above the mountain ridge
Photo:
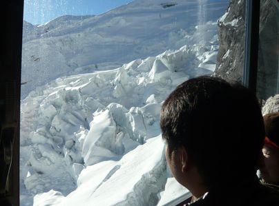
[[[132,0],[25,0],[23,19],[32,24],[46,23],[66,14],[102,14]]]

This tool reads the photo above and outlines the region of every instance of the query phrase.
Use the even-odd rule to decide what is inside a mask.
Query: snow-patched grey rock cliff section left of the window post
[[[215,69],[215,75],[227,81],[242,81],[244,23],[245,1],[231,1],[227,12],[218,21],[220,48]]]

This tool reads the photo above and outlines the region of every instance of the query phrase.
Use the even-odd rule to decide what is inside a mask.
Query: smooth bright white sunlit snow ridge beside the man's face
[[[163,186],[158,181],[166,170],[163,153],[164,143],[157,136],[120,161],[88,166],[79,176],[77,189],[58,205],[154,205],[158,199],[156,194]],[[35,201],[34,205],[39,203]]]

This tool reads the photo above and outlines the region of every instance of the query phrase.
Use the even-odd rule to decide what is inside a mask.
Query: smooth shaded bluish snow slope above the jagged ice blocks
[[[208,41],[202,33],[210,31],[202,28],[200,39],[187,37],[195,25],[215,21],[227,6],[226,1],[203,1],[202,8],[195,0],[167,2],[133,1],[98,16],[59,17],[39,26],[25,22],[21,96],[59,76],[107,70]],[[202,14],[201,9],[208,12]]]

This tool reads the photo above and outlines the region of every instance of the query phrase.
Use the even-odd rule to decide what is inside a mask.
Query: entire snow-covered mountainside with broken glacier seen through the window
[[[166,167],[160,107],[215,70],[227,5],[144,0],[25,23],[21,205],[164,205],[185,194]]]

